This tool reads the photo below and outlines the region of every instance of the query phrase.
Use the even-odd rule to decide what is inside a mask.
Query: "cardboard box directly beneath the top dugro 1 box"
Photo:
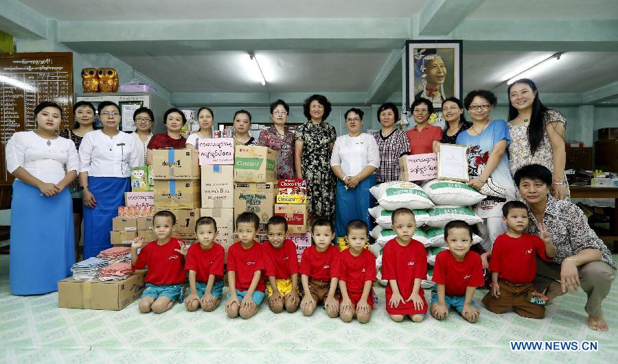
[[[198,208],[201,206],[199,180],[155,180],[155,208]]]

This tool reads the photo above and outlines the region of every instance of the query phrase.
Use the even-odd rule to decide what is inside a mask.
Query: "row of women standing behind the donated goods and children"
[[[234,138],[237,145],[264,145],[277,151],[279,178],[306,178],[310,216],[334,219],[339,237],[345,236],[345,225],[351,219],[362,219],[369,224],[367,209],[375,203],[369,189],[376,183],[399,179],[400,156],[438,151],[439,143],[468,146],[468,184],[487,195],[483,202],[474,206],[477,215],[484,219],[479,230],[483,236],[481,245],[486,265],[493,241],[505,232],[501,206],[508,200],[520,198],[537,210],[540,208],[537,202],[529,199],[531,194],[516,193],[513,175],[519,169],[539,165],[551,174],[551,184],[547,186],[551,196],[545,202],[547,206],[552,206],[553,201],[569,199],[564,175],[564,117],[540,102],[536,85],[531,80],[514,82],[508,88],[508,95],[509,121],[492,120],[495,95],[487,90],[474,90],[463,102],[454,97],[442,101],[444,130],[428,125],[433,102],[419,97],[411,105],[415,125],[407,132],[396,127],[398,108],[387,103],[378,108],[376,115],[381,130],[373,135],[363,133],[364,113],[351,108],[345,112],[347,134],[339,137],[334,127],[326,122],[332,106],[323,95],[311,95],[305,100],[307,122],[298,125],[294,132],[286,126],[290,108],[279,99],[270,107],[273,126],[263,130],[257,140],[249,135],[251,113],[238,110],[233,118]],[[465,110],[471,121],[466,120]],[[111,219],[117,207],[123,204],[124,192],[130,191],[130,167],[151,164],[153,149],[196,148],[200,138],[212,136],[214,125],[214,112],[201,108],[198,110],[200,130],[185,139],[181,135],[181,128],[187,121],[185,115],[172,108],[163,117],[167,132],[153,136],[150,134],[155,119],[152,111],[140,108],[133,117],[137,132],[130,135],[118,130],[119,107],[104,101],[98,106],[102,129],[94,130],[95,108],[80,102],[74,107],[75,127],[63,130],[60,136],[64,138],[58,138],[60,107],[44,102],[35,108],[34,114],[37,130],[14,134],[6,147],[8,171],[16,178],[10,282],[12,293],[17,295],[56,291],[57,281],[69,275],[69,267],[78,256],[76,247],[82,215],[84,258],[95,256],[108,247]],[[73,182],[78,173],[79,188]],[[72,204],[69,188],[73,192]],[[520,187],[518,191],[523,190]],[[32,226],[32,221],[37,221],[38,226]],[[542,211],[536,221],[538,228],[543,228],[544,223],[555,224],[555,221],[544,219]],[[33,243],[36,241],[48,243]],[[615,272],[613,262],[605,261],[607,248],[597,243],[595,241],[594,247],[602,254],[599,257],[593,254],[593,258],[603,258]],[[565,243],[569,251],[563,252],[564,258],[590,244],[590,241]],[[556,249],[560,247],[556,245]],[[590,262],[580,259],[582,265]],[[573,267],[567,269],[572,273]],[[27,274],[21,274],[26,271]],[[36,271],[45,271],[45,274],[36,274]],[[591,315],[598,311],[591,309]]]

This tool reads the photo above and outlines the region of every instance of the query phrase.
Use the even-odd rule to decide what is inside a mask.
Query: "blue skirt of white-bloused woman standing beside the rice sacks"
[[[337,239],[347,234],[347,223],[351,220],[363,220],[371,231],[369,208],[374,207],[376,199],[369,189],[376,185],[376,175],[372,174],[362,180],[354,189],[345,189],[345,184],[337,180],[335,195],[335,234]],[[369,232],[368,231],[368,232]]]

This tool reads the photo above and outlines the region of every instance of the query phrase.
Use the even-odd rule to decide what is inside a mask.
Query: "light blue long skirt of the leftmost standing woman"
[[[58,280],[71,276],[74,241],[69,190],[47,197],[36,187],[15,180],[11,202],[11,294],[58,291]]]

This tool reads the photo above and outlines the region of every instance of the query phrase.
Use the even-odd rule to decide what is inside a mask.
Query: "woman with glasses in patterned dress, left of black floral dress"
[[[279,99],[271,104],[273,126],[260,132],[258,145],[277,151],[277,178],[294,178],[294,132],[286,128],[290,106]]]

